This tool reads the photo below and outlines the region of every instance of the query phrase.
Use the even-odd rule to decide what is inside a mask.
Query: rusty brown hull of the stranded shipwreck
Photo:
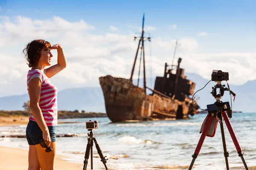
[[[105,99],[106,113],[112,122],[162,119],[187,119],[191,112],[188,102],[147,95],[143,88],[134,86],[129,79],[105,76],[99,78]]]

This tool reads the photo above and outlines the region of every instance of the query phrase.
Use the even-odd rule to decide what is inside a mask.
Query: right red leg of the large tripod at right
[[[241,157],[241,159],[242,159],[242,161],[243,161],[243,163],[244,163],[245,169],[246,169],[246,170],[249,170],[248,167],[247,167],[247,164],[246,164],[246,162],[245,162],[245,160],[244,160],[244,156],[243,156],[243,155],[244,155],[244,152],[242,151],[242,149],[241,149],[241,147],[240,147],[240,144],[239,144],[239,142],[238,142],[238,140],[237,140],[237,138],[236,138],[236,134],[235,134],[235,132],[234,132],[234,130],[233,130],[233,127],[232,127],[232,125],[231,125],[231,123],[230,123],[230,120],[228,119],[227,113],[226,113],[225,111],[222,112],[222,116],[223,116],[223,119],[224,119],[224,121],[225,121],[225,123],[226,123],[226,125],[227,125],[227,129],[228,129],[228,131],[229,131],[229,133],[230,133],[230,136],[231,136],[231,138],[232,138],[232,140],[233,140],[233,143],[235,144],[235,147],[236,147],[238,156]]]

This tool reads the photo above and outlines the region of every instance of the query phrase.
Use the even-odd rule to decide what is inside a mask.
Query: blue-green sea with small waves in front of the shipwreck
[[[201,125],[207,114],[190,119],[112,123],[108,117],[87,119],[59,119],[57,135],[76,134],[74,137],[57,137],[57,154],[65,161],[84,164],[89,132],[85,122],[97,120],[99,128],[93,136],[107,156],[108,170],[188,170],[192,155],[201,134]],[[256,170],[256,113],[233,113],[230,119],[244,159],[250,170]],[[225,122],[224,122],[225,123]],[[26,125],[0,127],[0,136],[25,135]],[[245,170],[230,133],[224,124],[230,170]],[[0,138],[0,146],[28,150],[26,138]],[[87,169],[90,169],[90,159]],[[81,170],[83,166],[81,166]],[[104,170],[95,144],[93,169]],[[224,151],[218,124],[214,137],[206,137],[193,170],[226,170]]]

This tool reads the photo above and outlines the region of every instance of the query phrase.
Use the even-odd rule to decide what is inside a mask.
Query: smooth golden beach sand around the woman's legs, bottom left
[[[28,150],[0,146],[0,170],[27,170]],[[55,170],[82,170],[84,164],[70,163],[62,160],[64,156],[56,156]],[[88,167],[87,167],[88,169]]]

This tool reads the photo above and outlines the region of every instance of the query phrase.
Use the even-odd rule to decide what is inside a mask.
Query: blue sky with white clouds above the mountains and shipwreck
[[[210,79],[217,69],[229,72],[230,84],[242,85],[256,79],[255,8],[255,0],[0,0],[0,96],[27,93],[31,68],[21,51],[34,39],[63,46],[67,67],[51,78],[59,91],[99,86],[105,75],[130,78],[143,13],[151,37],[146,77],[163,76],[178,40],[174,61],[182,58],[185,75]]]

